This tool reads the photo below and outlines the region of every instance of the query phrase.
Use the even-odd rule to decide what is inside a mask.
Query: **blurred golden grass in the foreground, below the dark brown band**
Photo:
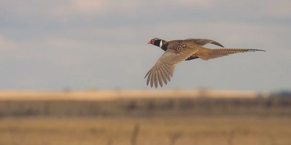
[[[291,145],[291,118],[6,118],[0,145]]]

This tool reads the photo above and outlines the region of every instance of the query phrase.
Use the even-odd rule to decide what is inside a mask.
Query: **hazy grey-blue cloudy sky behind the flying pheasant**
[[[182,62],[159,89],[291,89],[290,0],[0,0],[0,10],[2,90],[150,89],[144,76],[163,53],[154,37],[267,51]]]

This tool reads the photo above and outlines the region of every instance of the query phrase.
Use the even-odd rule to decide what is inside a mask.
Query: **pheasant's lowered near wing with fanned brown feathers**
[[[169,49],[169,47],[178,49]],[[150,82],[150,87],[158,87],[158,82],[162,87],[162,82],[167,85],[167,81],[171,81],[175,67],[178,63],[192,56],[197,48],[185,44],[177,44],[176,46],[169,46],[168,49],[158,59],[157,63],[146,73],[146,85]],[[145,76],[145,78],[146,78]]]

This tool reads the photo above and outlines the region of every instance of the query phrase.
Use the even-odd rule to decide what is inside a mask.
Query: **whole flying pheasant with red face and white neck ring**
[[[162,82],[167,85],[167,82],[170,82],[171,77],[173,77],[176,65],[184,60],[192,60],[195,58],[208,60],[239,52],[264,51],[259,49],[209,49],[203,47],[203,45],[208,43],[224,47],[222,44],[210,39],[185,39],[169,42],[159,38],[151,39],[148,44],[159,46],[165,52],[158,59],[157,63],[146,73],[146,85],[150,83],[150,87],[155,85],[156,88],[158,87],[158,82],[161,87],[163,85]]]

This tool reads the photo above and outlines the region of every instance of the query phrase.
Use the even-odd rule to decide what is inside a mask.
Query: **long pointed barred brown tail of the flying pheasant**
[[[240,52],[255,52],[255,51],[265,51],[260,49],[235,49],[235,48],[226,48],[226,49],[210,49],[210,52],[208,55],[198,56],[201,59],[208,60],[212,58],[218,58],[227,56],[234,53],[240,53]]]

